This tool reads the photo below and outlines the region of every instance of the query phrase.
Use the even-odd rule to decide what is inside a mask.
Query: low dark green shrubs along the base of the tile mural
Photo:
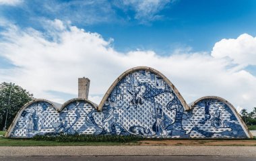
[[[55,141],[55,142],[133,142],[141,140],[140,136],[94,136],[94,135],[65,135],[61,134],[59,136],[44,135],[44,136],[34,136],[32,140],[41,141]]]

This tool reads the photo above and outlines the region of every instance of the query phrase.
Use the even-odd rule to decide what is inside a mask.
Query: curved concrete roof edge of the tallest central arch
[[[106,99],[108,99],[108,96],[113,91],[113,89],[115,88],[117,83],[119,83],[119,81],[122,78],[125,78],[125,76],[127,76],[127,74],[130,74],[131,72],[134,72],[134,71],[137,71],[137,70],[148,70],[150,72],[153,72],[154,74],[158,74],[159,76],[161,76],[164,79],[164,81],[172,88],[174,93],[177,95],[177,97],[178,97],[179,101],[181,101],[181,104],[183,105],[184,109],[185,110],[189,110],[190,109],[190,107],[189,107],[189,105],[187,105],[185,99],[183,99],[181,93],[179,93],[178,89],[170,82],[170,80],[168,80],[168,78],[166,78],[166,76],[164,76],[164,74],[162,74],[158,70],[156,70],[154,68],[150,68],[148,66],[137,66],[137,67],[134,67],[134,68],[130,68],[129,70],[126,70],[125,72],[123,72],[123,74],[121,74],[119,77],[117,77],[117,79],[108,88],[108,91],[106,91],[104,97],[100,101],[100,105],[98,105],[98,111],[102,110],[102,107],[103,107],[104,103],[106,102]]]

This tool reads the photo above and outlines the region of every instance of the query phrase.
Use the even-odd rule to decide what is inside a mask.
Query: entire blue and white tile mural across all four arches
[[[234,109],[224,101],[201,99],[185,110],[159,74],[135,70],[115,85],[102,111],[84,99],[58,112],[46,101],[34,101],[9,131],[13,138],[45,133],[137,135],[148,138],[250,138]]]

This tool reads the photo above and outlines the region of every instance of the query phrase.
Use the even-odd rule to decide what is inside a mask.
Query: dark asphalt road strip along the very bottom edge
[[[8,156],[0,157],[0,161],[151,161],[151,160],[168,160],[168,161],[255,161],[255,157],[234,157],[234,156]]]

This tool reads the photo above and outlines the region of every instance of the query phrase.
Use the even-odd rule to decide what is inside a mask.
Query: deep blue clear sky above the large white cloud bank
[[[166,1],[152,13],[158,19],[152,19],[151,13],[136,18],[140,13],[132,5],[117,3],[121,1],[24,1],[18,6],[2,5],[0,13],[21,28],[38,30],[43,30],[41,19],[71,21],[105,39],[113,38],[113,46],[121,52],[139,48],[164,55],[179,47],[210,51],[222,38],[256,35],[253,0]]]

